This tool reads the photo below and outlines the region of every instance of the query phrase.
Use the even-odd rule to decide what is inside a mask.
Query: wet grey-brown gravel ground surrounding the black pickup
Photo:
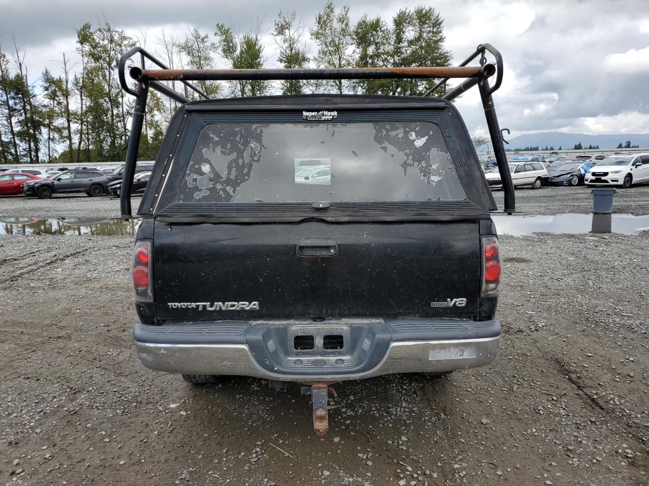
[[[589,193],[516,192],[524,214],[588,213]],[[614,207],[648,214],[649,186]],[[109,198],[0,199],[0,216],[117,212]],[[646,232],[501,236],[495,364],[337,384],[323,439],[297,386],[195,388],[141,366],[132,241],[0,237],[4,483],[649,484]]]

